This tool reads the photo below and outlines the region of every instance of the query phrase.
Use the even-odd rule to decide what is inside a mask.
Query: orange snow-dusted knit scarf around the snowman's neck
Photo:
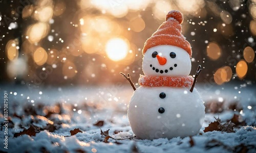
[[[191,87],[194,78],[187,77],[153,77],[140,75],[139,84],[148,87]]]

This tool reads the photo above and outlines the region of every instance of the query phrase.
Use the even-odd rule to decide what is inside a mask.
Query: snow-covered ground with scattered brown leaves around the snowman
[[[256,88],[255,85],[227,84],[205,86],[197,84],[208,112],[200,131],[192,138],[157,140],[109,139],[104,141],[100,129],[110,129],[115,139],[131,138],[133,132],[126,116],[126,106],[133,90],[129,86],[108,87],[57,87],[31,89],[28,87],[0,87],[1,100],[8,93],[9,139],[4,148],[4,131],[0,131],[0,150],[5,152],[256,152]],[[236,111],[228,110],[232,104]],[[223,104],[223,105],[220,105]],[[220,113],[218,113],[220,112]],[[204,127],[214,116],[223,122],[239,115],[245,125],[238,125],[235,133],[206,132]],[[0,114],[3,118],[3,105]],[[102,122],[99,122],[102,121]],[[96,125],[96,123],[98,123]],[[103,125],[100,125],[103,124]],[[14,137],[15,133],[36,128],[36,135]],[[82,133],[70,136],[79,128]]]

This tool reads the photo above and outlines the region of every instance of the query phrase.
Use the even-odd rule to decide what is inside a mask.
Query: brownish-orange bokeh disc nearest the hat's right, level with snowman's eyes
[[[221,48],[216,42],[210,42],[209,45],[207,46],[207,56],[211,60],[217,60],[221,56]]]

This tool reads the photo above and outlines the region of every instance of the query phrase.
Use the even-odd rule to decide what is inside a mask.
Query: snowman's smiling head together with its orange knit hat
[[[192,50],[181,34],[182,21],[181,12],[170,11],[158,30],[146,40],[142,49],[145,75],[188,76]]]

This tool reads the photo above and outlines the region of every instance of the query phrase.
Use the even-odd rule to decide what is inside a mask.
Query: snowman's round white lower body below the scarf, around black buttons
[[[165,98],[160,98],[162,92]],[[159,108],[164,112],[159,113]],[[186,137],[199,132],[204,109],[196,89],[141,86],[134,91],[128,117],[139,139]]]

